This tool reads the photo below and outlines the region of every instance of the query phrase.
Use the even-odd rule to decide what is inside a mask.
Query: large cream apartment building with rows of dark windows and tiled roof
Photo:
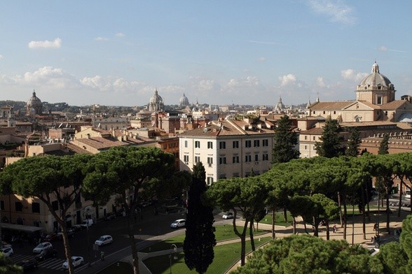
[[[221,120],[179,135],[180,170],[202,162],[207,185],[219,179],[261,174],[271,167],[273,124]]]

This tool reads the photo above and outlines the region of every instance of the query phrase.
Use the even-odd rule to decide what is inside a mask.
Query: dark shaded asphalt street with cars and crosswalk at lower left
[[[164,233],[174,231],[170,229],[170,223],[175,219],[185,218],[186,214],[184,210],[179,213],[171,214],[158,214],[153,212],[153,206],[149,206],[142,209],[141,218],[137,224],[135,235],[137,242],[140,243],[146,238],[153,236],[159,236]],[[218,219],[219,217],[217,217]],[[111,235],[113,237],[113,243],[99,247],[99,250],[93,250],[93,244],[102,235]],[[88,254],[88,238],[90,244],[90,253]],[[65,261],[64,247],[62,240],[54,240],[52,242],[53,247],[57,251],[55,258],[46,259],[39,263],[39,267],[29,271],[30,273],[56,273],[56,271],[64,271],[62,264]],[[69,238],[69,244],[71,247],[71,256],[81,256],[85,260],[83,266],[76,268],[76,273],[95,273],[99,269],[100,252],[104,252],[106,258],[118,257],[123,259],[130,255],[130,242],[128,240],[127,231],[127,218],[116,217],[109,221],[97,222],[90,226],[89,231],[83,229],[78,231],[74,238]],[[34,245],[29,246],[27,243],[21,245],[13,245],[14,254],[11,260],[14,263],[18,263],[24,259],[30,259],[34,256],[32,250]],[[142,247],[139,247],[142,248]],[[93,266],[89,268],[88,263]],[[89,269],[88,269],[89,268]]]

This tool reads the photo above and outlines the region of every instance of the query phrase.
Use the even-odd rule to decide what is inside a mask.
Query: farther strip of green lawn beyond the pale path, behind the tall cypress
[[[221,240],[229,240],[229,239],[234,239],[238,238],[236,236],[235,232],[233,232],[233,226],[231,224],[224,224],[224,225],[219,225],[219,226],[214,226],[216,228],[216,231],[214,232],[214,236],[216,237],[217,242]],[[238,226],[238,229],[243,229],[241,226]],[[266,231],[263,231],[259,229],[259,231],[255,231],[254,235],[259,235],[262,233],[265,233]],[[249,233],[248,233],[249,235]],[[146,247],[143,250],[139,250],[140,252],[155,252],[159,250],[169,250],[170,245],[174,244],[178,248],[183,247],[183,241],[184,241],[185,235],[179,235],[173,238],[169,238],[167,240],[162,240],[161,242],[158,243],[153,243],[150,247]]]

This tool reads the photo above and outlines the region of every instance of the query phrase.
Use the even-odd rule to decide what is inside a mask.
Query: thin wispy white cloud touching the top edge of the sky
[[[341,0],[309,0],[308,5],[315,12],[329,17],[331,22],[352,25],[357,22],[353,9]]]

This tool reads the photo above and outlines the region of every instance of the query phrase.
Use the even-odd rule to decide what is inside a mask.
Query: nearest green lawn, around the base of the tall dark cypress
[[[268,243],[270,237],[261,238],[260,242],[255,239],[256,247]],[[246,242],[246,252],[252,250],[250,241]],[[175,259],[175,257],[177,259]],[[233,266],[240,259],[240,243],[231,243],[228,245],[219,245],[214,247],[214,260],[207,268],[206,273],[225,273],[228,268]],[[170,255],[151,257],[144,261],[144,264],[149,268],[151,273],[170,273]],[[172,254],[172,273],[196,273],[190,271],[184,263],[184,253]]]

